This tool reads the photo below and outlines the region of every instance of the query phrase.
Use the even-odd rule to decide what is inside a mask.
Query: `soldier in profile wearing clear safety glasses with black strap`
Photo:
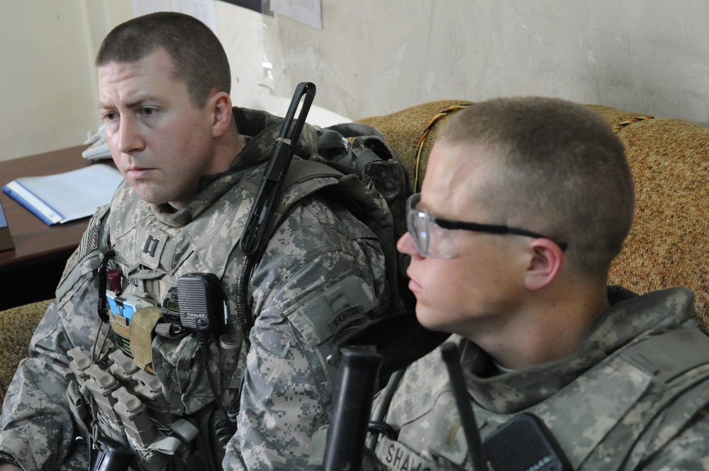
[[[709,470],[709,338],[693,293],[607,286],[633,209],[623,145],[585,106],[493,99],[442,129],[398,250],[418,321],[452,334],[482,440],[528,413],[574,470]],[[388,469],[473,469],[441,356],[376,397]],[[524,456],[518,437],[496,453]]]

